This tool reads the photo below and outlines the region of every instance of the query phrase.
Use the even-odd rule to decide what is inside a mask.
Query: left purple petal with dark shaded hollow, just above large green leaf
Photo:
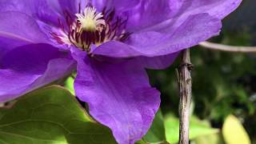
[[[20,46],[0,59],[0,102],[7,102],[74,70],[70,54],[36,44]]]

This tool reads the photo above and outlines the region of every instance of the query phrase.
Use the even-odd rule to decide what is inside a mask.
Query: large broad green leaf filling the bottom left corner
[[[116,143],[110,130],[94,122],[66,89],[49,86],[0,109],[0,143]]]

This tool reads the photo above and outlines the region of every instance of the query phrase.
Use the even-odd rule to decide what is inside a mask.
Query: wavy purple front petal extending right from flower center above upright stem
[[[112,58],[132,58],[138,56],[157,57],[178,53],[199,42],[217,35],[221,22],[209,14],[196,14],[186,19],[176,30],[169,34],[147,31],[132,34],[129,41],[110,41],[98,46],[94,55],[104,55]]]

